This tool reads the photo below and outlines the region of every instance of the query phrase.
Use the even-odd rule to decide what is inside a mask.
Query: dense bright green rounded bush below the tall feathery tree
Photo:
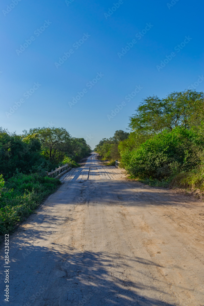
[[[121,151],[121,166],[134,177],[168,179],[196,166],[200,160],[195,149],[202,149],[203,144],[203,138],[193,130],[165,130],[132,151]]]

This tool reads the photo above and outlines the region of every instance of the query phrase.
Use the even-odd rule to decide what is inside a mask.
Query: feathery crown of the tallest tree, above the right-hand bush
[[[203,93],[172,92],[166,98],[147,97],[130,117],[130,128],[143,134],[157,134],[176,126],[190,128],[204,118]]]

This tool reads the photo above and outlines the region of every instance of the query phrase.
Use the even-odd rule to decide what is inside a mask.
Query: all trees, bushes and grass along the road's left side
[[[80,166],[90,152],[83,138],[63,128],[30,129],[22,135],[0,128],[0,233],[12,232],[61,184],[46,171],[67,163]]]

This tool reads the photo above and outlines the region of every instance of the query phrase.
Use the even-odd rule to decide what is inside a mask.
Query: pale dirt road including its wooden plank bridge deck
[[[0,305],[204,305],[203,203],[127,181],[95,154],[63,181],[10,237]]]

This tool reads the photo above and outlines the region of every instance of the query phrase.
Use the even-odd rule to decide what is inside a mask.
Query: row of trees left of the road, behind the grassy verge
[[[23,135],[0,128],[0,174],[39,173],[62,166],[66,157],[72,165],[87,156],[91,148],[83,138],[73,138],[63,128],[36,128]]]

